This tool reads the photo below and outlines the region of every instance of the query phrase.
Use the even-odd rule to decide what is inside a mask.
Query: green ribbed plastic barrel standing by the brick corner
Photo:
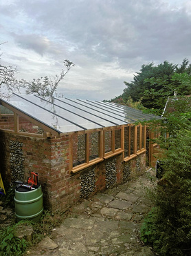
[[[20,189],[21,190],[21,189]],[[14,196],[16,219],[38,221],[43,214],[43,193],[39,186],[35,190],[15,190]]]

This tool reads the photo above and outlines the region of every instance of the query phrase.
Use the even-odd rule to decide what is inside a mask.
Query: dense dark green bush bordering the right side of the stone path
[[[141,230],[145,243],[159,255],[191,253],[191,130],[170,138],[164,177],[153,191],[155,208]]]

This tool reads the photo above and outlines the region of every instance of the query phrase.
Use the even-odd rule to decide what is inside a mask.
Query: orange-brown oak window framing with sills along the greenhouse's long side
[[[128,127],[128,156],[124,157],[124,128]],[[137,150],[137,127],[139,127],[139,150]],[[133,137],[133,154],[131,154],[131,128],[134,129],[134,137]],[[115,149],[115,131],[120,130],[120,148]],[[89,161],[89,135],[91,132],[99,132],[99,155],[97,158]],[[104,152],[105,148],[105,132],[111,131],[111,151]],[[79,164],[78,166],[73,167],[73,144],[72,144],[72,137],[74,135],[85,135],[85,163]],[[107,127],[102,129],[95,129],[95,130],[85,130],[81,132],[71,132],[69,133],[69,170],[71,173],[78,173],[78,171],[88,168],[93,164],[98,164],[100,161],[104,161],[104,159],[109,159],[115,155],[122,154],[124,161],[129,161],[137,155],[146,152],[146,125],[142,126],[139,124],[137,126],[133,124],[122,125],[122,126],[114,126],[114,127]]]

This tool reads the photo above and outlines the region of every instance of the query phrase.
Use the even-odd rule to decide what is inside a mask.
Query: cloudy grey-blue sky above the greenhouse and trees
[[[1,63],[18,79],[58,75],[64,97],[121,95],[143,64],[191,61],[190,0],[0,0]]]

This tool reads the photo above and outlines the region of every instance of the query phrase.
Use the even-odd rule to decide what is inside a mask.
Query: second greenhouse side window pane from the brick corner
[[[99,157],[99,137],[100,132],[89,134],[89,161]]]

